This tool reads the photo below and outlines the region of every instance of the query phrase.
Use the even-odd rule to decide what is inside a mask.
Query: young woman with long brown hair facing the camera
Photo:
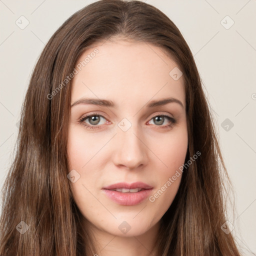
[[[222,167],[222,168],[221,168]],[[1,255],[240,255],[192,53],[140,1],[101,0],[52,35],[3,186]]]

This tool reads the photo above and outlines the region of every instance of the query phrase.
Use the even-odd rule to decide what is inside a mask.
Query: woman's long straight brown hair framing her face
[[[97,253],[89,230],[81,225],[83,216],[67,178],[69,74],[84,50],[118,36],[159,46],[177,63],[185,81],[185,161],[201,153],[183,172],[174,201],[161,218],[157,255],[240,255],[231,233],[221,230],[221,170],[226,169],[193,55],[164,13],[135,0],[89,4],[69,17],[44,47],[30,78],[15,159],[2,188],[0,255]],[[20,233],[18,228],[27,230]]]

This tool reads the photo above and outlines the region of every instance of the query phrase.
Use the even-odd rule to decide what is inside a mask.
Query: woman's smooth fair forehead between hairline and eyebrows
[[[152,44],[105,41],[84,51],[78,65],[71,102],[82,96],[96,96],[129,105],[171,96],[185,105],[183,76],[177,80],[171,76],[177,64]]]

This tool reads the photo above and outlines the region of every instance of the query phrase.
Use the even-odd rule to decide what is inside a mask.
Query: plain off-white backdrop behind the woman
[[[0,188],[13,159],[20,108],[38,56],[53,32],[91,2],[0,0]],[[245,255],[255,255],[256,1],[145,2],[177,25],[194,55],[234,188],[232,233]]]

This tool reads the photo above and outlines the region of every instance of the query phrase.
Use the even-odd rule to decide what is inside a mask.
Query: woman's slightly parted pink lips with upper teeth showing
[[[103,187],[102,190],[115,203],[131,206],[144,201],[150,195],[152,186],[143,182],[121,182]]]

